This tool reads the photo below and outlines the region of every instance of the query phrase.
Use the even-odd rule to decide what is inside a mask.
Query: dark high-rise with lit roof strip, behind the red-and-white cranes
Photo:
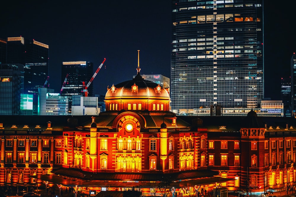
[[[82,82],[87,84],[93,76],[93,63],[87,61],[65,61],[62,63],[62,83],[65,81],[67,74],[68,77],[62,95],[84,95],[82,92]],[[92,84],[89,85],[88,92],[89,96],[93,95]]]

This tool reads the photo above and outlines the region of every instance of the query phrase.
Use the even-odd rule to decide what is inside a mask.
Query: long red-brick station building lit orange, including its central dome
[[[296,182],[295,119],[253,110],[176,117],[167,90],[137,70],[107,90],[97,116],[0,117],[0,185],[135,186],[151,195],[152,182],[169,179],[179,196],[216,187],[263,193]]]

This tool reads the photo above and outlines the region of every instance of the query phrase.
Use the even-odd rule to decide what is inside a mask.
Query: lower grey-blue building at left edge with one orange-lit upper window
[[[0,64],[0,115],[20,115],[23,70],[21,64]]]

